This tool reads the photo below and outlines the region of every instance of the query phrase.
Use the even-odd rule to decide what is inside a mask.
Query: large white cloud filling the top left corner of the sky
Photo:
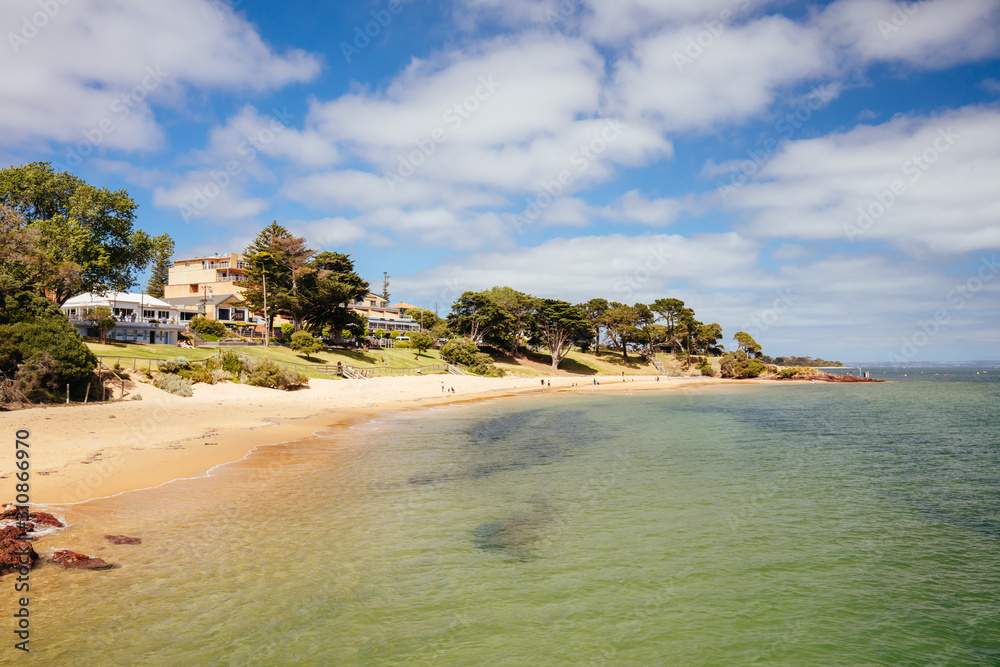
[[[251,24],[220,13],[221,3],[51,5],[58,9],[48,16],[32,0],[4,3],[11,43],[0,49],[0,133],[7,141],[67,143],[67,152],[81,142],[89,152],[155,148],[163,133],[151,102],[181,104],[188,88],[270,90],[319,72],[303,51],[275,54]]]

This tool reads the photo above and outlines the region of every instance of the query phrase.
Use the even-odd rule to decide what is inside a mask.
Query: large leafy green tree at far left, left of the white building
[[[37,233],[54,270],[35,289],[60,303],[78,292],[127,291],[152,259],[153,240],[132,228],[137,206],[125,190],[99,189],[32,162],[0,169],[0,203]]]

